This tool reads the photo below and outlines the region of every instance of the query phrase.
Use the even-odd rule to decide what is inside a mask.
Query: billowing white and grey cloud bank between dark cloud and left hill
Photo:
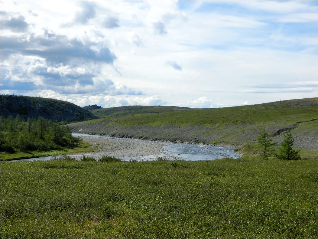
[[[142,91],[121,82],[105,79],[94,65],[49,66],[45,60],[26,58],[21,68],[14,64],[1,68],[1,90],[52,90],[60,94],[143,95]],[[18,85],[21,85],[19,87]]]

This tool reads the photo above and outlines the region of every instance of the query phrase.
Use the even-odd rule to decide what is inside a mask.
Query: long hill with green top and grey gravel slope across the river
[[[69,124],[72,132],[248,148],[264,127],[275,142],[317,151],[317,98],[218,109],[134,114]],[[246,150],[246,149],[245,149]]]

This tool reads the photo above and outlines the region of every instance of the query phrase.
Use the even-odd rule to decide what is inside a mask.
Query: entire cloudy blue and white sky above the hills
[[[0,1],[1,94],[219,108],[317,97],[317,1]]]

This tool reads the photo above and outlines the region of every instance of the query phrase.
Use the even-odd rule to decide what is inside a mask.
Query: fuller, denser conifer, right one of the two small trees
[[[278,158],[283,160],[299,160],[300,150],[295,150],[293,148],[294,146],[294,137],[290,133],[290,130],[287,131],[287,133],[284,135],[285,139],[280,144],[280,154],[278,155]]]

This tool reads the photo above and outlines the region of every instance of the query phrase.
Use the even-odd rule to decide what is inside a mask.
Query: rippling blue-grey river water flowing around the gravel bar
[[[73,133],[73,136],[86,136],[86,137],[101,137],[101,138],[114,138],[116,137],[108,137],[101,135],[87,135],[87,134],[77,134]],[[129,138],[121,138],[125,140],[142,140],[142,139],[129,139]],[[239,154],[235,153],[233,149],[221,147],[221,146],[212,146],[212,145],[200,145],[200,144],[184,144],[184,143],[167,143],[167,142],[158,142],[164,145],[164,152],[159,155],[149,155],[149,156],[141,156],[141,157],[120,157],[122,160],[128,161],[130,159],[134,159],[137,161],[144,160],[153,160],[155,158],[163,157],[163,158],[176,158],[183,159],[189,161],[197,161],[197,160],[213,160],[217,158],[239,158],[241,157]],[[84,154],[89,155],[89,153]],[[70,155],[74,156],[74,155]],[[50,157],[40,157],[40,158],[28,158],[28,159],[19,159],[12,160],[10,162],[19,162],[19,161],[36,161],[36,160],[50,160]]]

